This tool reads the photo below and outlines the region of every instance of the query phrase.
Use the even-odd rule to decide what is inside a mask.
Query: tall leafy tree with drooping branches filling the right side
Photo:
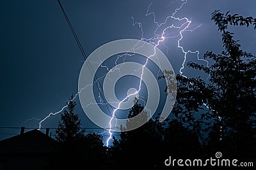
[[[173,114],[196,132],[211,154],[216,150],[225,150],[230,155],[255,152],[256,60],[251,53],[241,50],[227,29],[229,24],[253,24],[256,28],[256,19],[231,16],[229,12],[224,15],[217,10],[212,13],[212,20],[221,31],[225,51],[206,52],[204,59],[213,62],[209,67],[188,63],[189,67],[208,74],[207,81],[177,75],[178,95]]]

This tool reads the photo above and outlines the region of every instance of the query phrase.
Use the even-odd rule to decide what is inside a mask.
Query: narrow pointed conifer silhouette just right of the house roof
[[[84,129],[81,129],[81,120],[74,113],[76,102],[74,97],[68,99],[67,110],[61,113],[61,120],[56,129],[56,140],[60,142],[60,156],[58,168],[78,168],[83,162],[81,143],[84,139]]]

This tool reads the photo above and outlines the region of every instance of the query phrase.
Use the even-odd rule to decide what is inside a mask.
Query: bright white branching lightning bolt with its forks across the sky
[[[184,17],[184,18],[179,18],[179,17],[175,17],[175,15],[177,14],[177,12],[179,10],[182,9],[182,7],[188,2],[188,0],[181,0],[182,1],[182,4],[179,6],[179,8],[176,8],[175,11],[168,17],[165,18],[164,22],[162,23],[159,23],[157,22],[156,20],[156,15],[154,12],[150,12],[150,6],[152,6],[152,3],[150,3],[148,5],[148,9],[147,9],[147,13],[145,14],[146,17],[148,17],[149,15],[153,15],[154,17],[154,24],[156,25],[156,29],[154,30],[154,33],[153,33],[153,36],[151,38],[145,38],[144,37],[144,32],[143,32],[143,25],[141,24],[141,22],[134,22],[134,17],[131,17],[132,18],[132,25],[138,25],[138,27],[140,28],[140,31],[141,31],[141,41],[147,41],[148,43],[151,43],[152,45],[155,46],[155,50],[154,50],[154,53],[152,53],[152,55],[150,55],[150,57],[154,57],[156,55],[156,48],[157,46],[159,46],[160,43],[163,43],[163,41],[165,39],[173,39],[173,38],[179,38],[178,41],[177,41],[177,47],[180,48],[182,50],[182,53],[184,54],[183,57],[184,57],[184,60],[182,62],[182,66],[180,67],[180,70],[179,70],[179,73],[180,75],[184,76],[184,74],[182,73],[182,69],[184,69],[184,64],[186,62],[186,58],[187,58],[187,55],[188,53],[196,53],[197,55],[197,59],[198,60],[203,60],[204,62],[207,63],[207,66],[208,66],[208,62],[207,60],[204,60],[204,59],[199,59],[199,51],[195,51],[195,52],[191,52],[191,50],[188,50],[188,51],[185,51],[184,50],[184,47],[182,45],[180,45],[180,41],[182,41],[182,39],[184,38],[184,35],[183,33],[186,32],[186,31],[190,31],[190,32],[193,32],[195,29],[198,29],[198,27],[200,27],[201,25],[198,25],[198,27],[195,27],[194,29],[189,29],[190,25],[191,25],[191,20],[189,20],[188,18]],[[182,22],[181,25],[174,25],[174,24],[168,24],[168,20],[176,20],[178,22]],[[163,28],[162,28],[163,27]],[[157,31],[159,31],[160,29],[163,29],[163,31],[161,31],[160,34],[157,34]],[[174,36],[168,36],[168,34],[166,34],[166,31],[169,31],[170,29],[179,29],[179,32],[177,34],[175,34]],[[174,33],[174,32],[173,32]],[[79,46],[80,47],[80,46]],[[135,47],[134,47],[135,48]],[[131,54],[129,53],[125,53],[124,55],[118,55],[118,58],[116,59],[115,61],[115,64],[117,66],[117,60],[120,59],[120,57],[124,57],[124,60],[125,60],[125,57],[129,56]],[[122,99],[122,101],[120,101],[118,103],[118,107],[115,108],[115,110],[113,110],[113,112],[111,113],[111,120],[109,121],[109,130],[108,130],[108,133],[109,133],[109,137],[106,141],[106,146],[109,146],[109,140],[112,139],[112,135],[113,135],[113,132],[111,131],[112,128],[114,127],[111,127],[111,122],[113,121],[113,118],[116,117],[116,111],[117,110],[120,110],[120,106],[122,103],[124,103],[125,100],[127,100],[129,97],[131,96],[135,96],[135,95],[138,95],[138,93],[140,92],[141,90],[141,83],[142,83],[142,80],[143,80],[143,74],[144,74],[144,69],[145,67],[147,66],[148,64],[148,59],[150,59],[150,57],[147,57],[147,60],[145,62],[145,64],[142,66],[141,68],[141,74],[140,74],[140,85],[139,85],[139,89],[138,91],[134,92],[133,94],[129,94],[127,95],[126,97],[124,97],[124,99]],[[90,62],[88,60],[85,60],[85,62]],[[101,67],[104,67],[106,68],[108,71],[115,71],[115,70],[119,70],[118,67],[114,67],[114,69],[109,69],[107,66],[102,66],[102,63],[100,63],[100,66]],[[122,66],[122,65],[121,65]],[[120,70],[119,70],[120,71]],[[104,75],[106,76],[106,74]],[[104,76],[102,76],[101,78],[97,78],[97,81],[94,81],[93,84],[90,84],[90,85],[86,85],[86,87],[84,87],[83,89],[81,89],[79,92],[77,92],[77,94],[74,96],[74,98],[72,99],[72,101],[74,101],[74,99],[76,99],[76,97],[84,90],[86,89],[87,87],[89,86],[93,86],[95,83],[99,83],[99,80],[104,78]],[[99,87],[99,85],[98,85]],[[100,103],[90,103],[90,104],[109,104],[111,102],[104,102],[100,96],[101,92],[100,92],[100,88],[99,89],[99,101]],[[102,96],[103,97],[103,96]],[[88,104],[88,106],[90,105]],[[47,117],[45,117],[44,119],[40,120],[39,122],[39,128],[41,128],[42,126],[42,123],[47,120],[47,118],[51,117],[51,115],[57,115],[58,113],[61,113],[65,108],[67,108],[68,104],[63,106],[63,108],[61,108],[61,110],[55,112],[55,113],[49,113],[49,115],[47,115]],[[33,118],[35,119],[35,118]],[[29,119],[29,120],[32,120],[32,119]],[[28,122],[29,120],[25,121],[25,122]],[[37,119],[38,120],[38,119]],[[25,122],[23,122],[22,124],[24,124]],[[102,132],[102,134],[104,134],[105,132],[107,131],[104,131]]]

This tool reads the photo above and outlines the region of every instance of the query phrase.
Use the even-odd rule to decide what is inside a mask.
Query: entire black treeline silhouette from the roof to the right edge
[[[256,60],[251,53],[241,50],[228,31],[230,25],[255,25],[255,29],[256,19],[214,11],[212,20],[221,32],[225,51],[206,52],[204,59],[212,63],[209,67],[188,63],[189,67],[208,74],[207,80],[177,75],[174,119],[160,123],[157,117],[138,129],[120,132],[120,139],[113,138],[113,145],[107,148],[101,135],[85,135],[80,129],[81,122],[74,113],[76,103],[71,98],[56,130],[60,156],[50,169],[199,169],[167,167],[164,160],[170,156],[216,158],[216,152],[221,152],[225,159],[254,161],[256,166]],[[161,78],[169,78],[168,71],[163,75]],[[135,101],[129,117],[143,109]],[[211,168],[221,169],[207,167]]]

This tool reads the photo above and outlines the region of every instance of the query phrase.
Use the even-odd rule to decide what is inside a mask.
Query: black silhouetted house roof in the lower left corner
[[[0,153],[49,153],[59,143],[37,129],[0,141]]]

